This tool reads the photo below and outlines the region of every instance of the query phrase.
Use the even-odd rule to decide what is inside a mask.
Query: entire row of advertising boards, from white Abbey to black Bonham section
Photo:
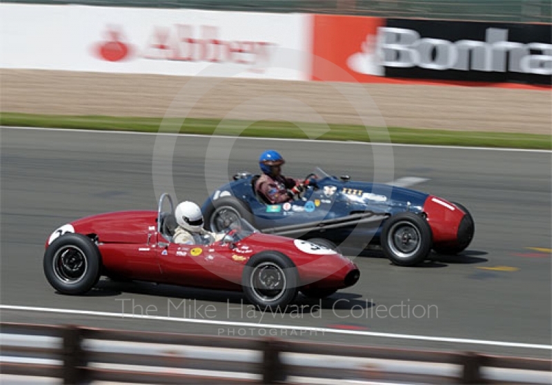
[[[363,83],[552,84],[552,26],[0,4],[0,68]]]

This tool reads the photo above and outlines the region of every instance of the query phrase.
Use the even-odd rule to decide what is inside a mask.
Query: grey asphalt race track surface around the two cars
[[[84,311],[3,308],[3,322],[248,337],[273,333],[313,342],[551,357],[550,348],[502,344],[551,345],[551,254],[529,249],[551,248],[550,152],[12,128],[0,133],[1,304]],[[432,255],[434,261],[415,268],[393,266],[378,253],[357,257],[362,272],[357,285],[323,302],[298,297],[302,310],[287,314],[250,311],[239,293],[101,281],[90,294],[72,297],[49,286],[42,270],[43,245],[55,228],[95,213],[156,209],[159,193],[171,191],[171,179],[178,201],[201,204],[210,186],[237,170],[257,172],[257,158],[266,148],[281,150],[287,160],[284,172],[297,177],[318,165],[361,180],[426,178],[413,188],[468,207],[475,239],[463,255]],[[172,162],[164,164],[157,154]],[[152,164],[164,175],[159,177]],[[146,315],[148,306],[152,317],[128,316]],[[186,322],[190,318],[198,322]],[[351,334],[300,329],[308,327]]]

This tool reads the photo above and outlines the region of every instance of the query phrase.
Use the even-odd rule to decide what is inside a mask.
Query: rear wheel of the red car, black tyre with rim
[[[84,294],[97,284],[101,255],[86,235],[66,233],[50,244],[44,253],[46,279],[62,294]]]

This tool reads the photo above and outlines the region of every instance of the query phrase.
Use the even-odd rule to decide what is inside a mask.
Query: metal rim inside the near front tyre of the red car
[[[249,279],[251,290],[262,302],[277,301],[286,291],[284,270],[273,262],[263,262],[253,269]]]

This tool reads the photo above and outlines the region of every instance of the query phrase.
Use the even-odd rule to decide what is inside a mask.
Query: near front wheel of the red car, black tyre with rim
[[[276,251],[263,251],[251,257],[242,276],[248,301],[261,310],[285,310],[297,296],[298,282],[293,261]]]

